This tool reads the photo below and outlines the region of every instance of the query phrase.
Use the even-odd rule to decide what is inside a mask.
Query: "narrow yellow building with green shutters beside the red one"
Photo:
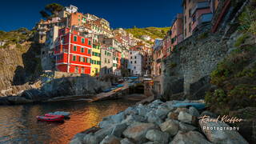
[[[97,76],[101,69],[101,46],[98,42],[93,43],[91,54],[90,75]]]

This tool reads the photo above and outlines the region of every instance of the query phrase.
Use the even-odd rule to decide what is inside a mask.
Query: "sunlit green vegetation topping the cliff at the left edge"
[[[26,28],[11,30],[10,32],[0,30],[0,42],[6,42],[2,47],[9,46],[10,44],[21,44],[29,40],[32,34],[33,32]]]

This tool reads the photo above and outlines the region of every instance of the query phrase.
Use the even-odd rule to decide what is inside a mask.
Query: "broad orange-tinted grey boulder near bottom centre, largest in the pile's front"
[[[158,129],[158,126],[153,123],[137,122],[122,133],[126,138],[133,139],[136,143],[142,143],[146,141],[146,132],[148,130]]]

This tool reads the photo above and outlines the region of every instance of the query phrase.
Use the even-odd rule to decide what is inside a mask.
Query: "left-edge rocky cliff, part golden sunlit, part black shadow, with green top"
[[[18,42],[13,38],[18,38]],[[41,45],[33,41],[30,31],[5,32],[1,40],[6,44],[0,48],[0,95],[29,88],[27,83],[36,80],[42,72]]]

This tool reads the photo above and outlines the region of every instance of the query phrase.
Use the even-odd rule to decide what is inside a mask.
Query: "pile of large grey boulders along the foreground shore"
[[[204,101],[155,100],[147,105],[130,106],[118,114],[103,118],[98,127],[76,134],[70,144],[248,143],[237,130],[230,130],[234,127],[224,122],[198,119],[206,115],[214,121],[218,117],[216,114],[197,110],[194,106],[177,106],[178,103],[192,102]]]

